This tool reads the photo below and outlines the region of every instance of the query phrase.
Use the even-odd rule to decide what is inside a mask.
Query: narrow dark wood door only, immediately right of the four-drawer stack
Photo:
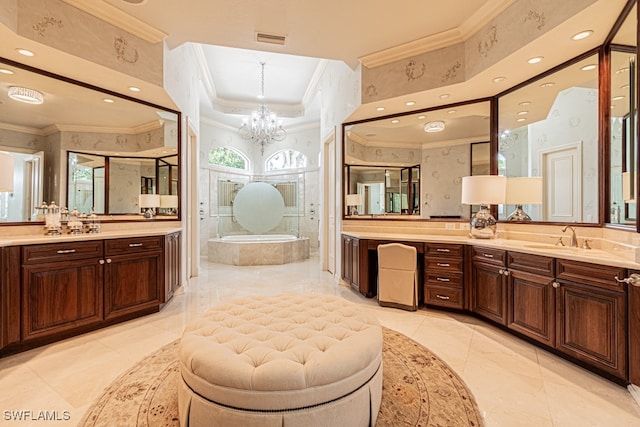
[[[505,268],[473,262],[471,269],[471,311],[501,325],[507,324]]]

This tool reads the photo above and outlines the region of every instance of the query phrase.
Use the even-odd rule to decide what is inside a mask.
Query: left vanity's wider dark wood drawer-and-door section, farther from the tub
[[[103,320],[102,241],[22,247],[22,341]]]

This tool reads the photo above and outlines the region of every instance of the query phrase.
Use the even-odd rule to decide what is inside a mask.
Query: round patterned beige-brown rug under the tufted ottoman
[[[462,380],[428,349],[383,328],[382,404],[377,426],[482,426]],[[178,427],[178,344],[174,341],[115,380],[78,426]]]

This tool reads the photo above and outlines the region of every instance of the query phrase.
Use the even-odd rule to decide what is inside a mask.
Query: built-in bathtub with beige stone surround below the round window
[[[208,259],[229,265],[279,265],[309,258],[309,238],[288,234],[232,235],[209,239]]]

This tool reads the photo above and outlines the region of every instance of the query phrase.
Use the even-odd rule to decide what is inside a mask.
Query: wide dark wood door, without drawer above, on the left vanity
[[[23,341],[102,322],[103,265],[99,261],[67,260],[23,267]]]

